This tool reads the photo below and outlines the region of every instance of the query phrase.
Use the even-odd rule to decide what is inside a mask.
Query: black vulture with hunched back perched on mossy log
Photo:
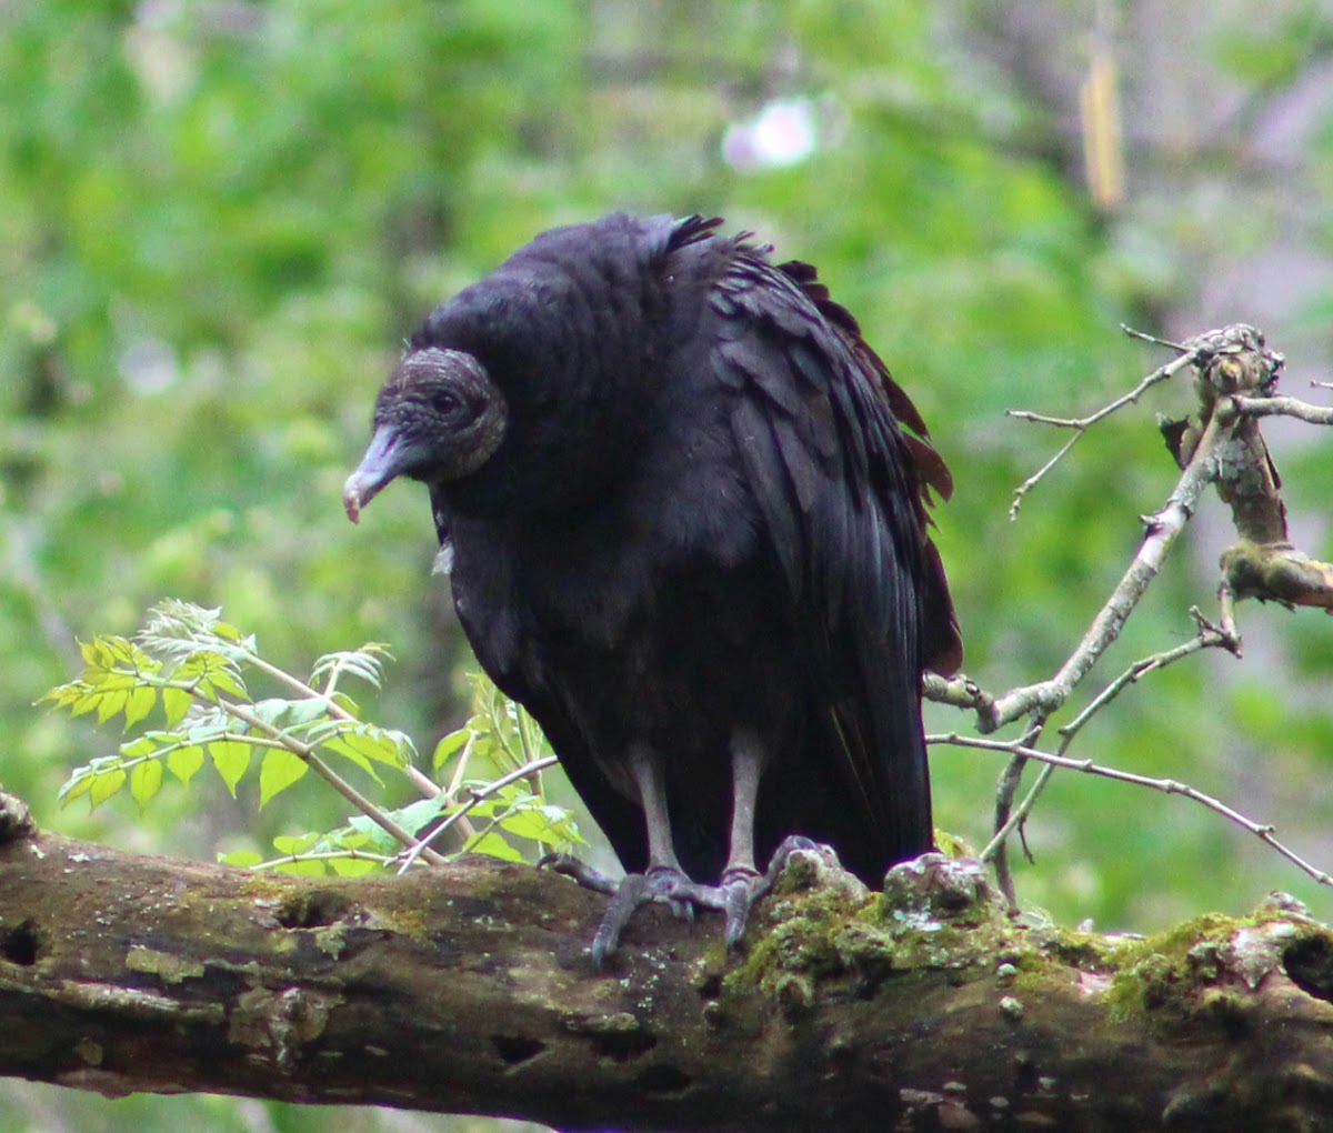
[[[929,508],[952,477],[813,267],[720,217],[553,228],[437,307],[344,488],[429,491],[481,668],[647,901],[736,948],[792,848],[872,888],[933,846],[921,680],[961,664]],[[761,868],[769,862],[768,868]]]

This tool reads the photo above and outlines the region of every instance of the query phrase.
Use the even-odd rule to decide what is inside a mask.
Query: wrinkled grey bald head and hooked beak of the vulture
[[[428,484],[477,472],[509,423],[504,395],[485,367],[463,351],[412,351],[375,403],[375,435],[343,488],[348,519],[399,476]]]

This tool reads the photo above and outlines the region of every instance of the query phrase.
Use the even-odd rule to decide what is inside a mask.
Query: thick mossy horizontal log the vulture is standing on
[[[1321,1129],[1333,934],[1290,902],[1141,941],[1024,925],[969,864],[797,854],[728,958],[531,866],[251,873],[0,796],[0,1073],[620,1129]]]

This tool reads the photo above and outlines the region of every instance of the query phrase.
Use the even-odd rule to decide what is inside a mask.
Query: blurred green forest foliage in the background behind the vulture
[[[1002,8],[1013,11],[1004,12]],[[1006,408],[1090,411],[1169,357],[1125,340],[1245,320],[1326,377],[1333,17],[1326,5],[790,0],[13,0],[0,7],[0,778],[55,829],[211,856],[331,825],[303,784],[255,814],[220,782],[57,812],[117,738],[35,709],[76,637],[175,596],[221,605],[296,670],[388,641],[373,705],[429,750],[468,664],[424,493],[352,528],[343,479],[375,391],[436,303],[536,232],[705,212],[820,267],[930,424],[957,495],[938,543],[992,690],[1048,676],[1174,484],[1158,389],[1062,443]],[[1080,87],[1114,71],[1125,188],[1094,201]],[[1114,137],[1112,139],[1114,141]],[[1113,187],[1112,187],[1113,188]],[[1293,532],[1333,555],[1326,435],[1265,427]],[[1209,500],[1100,681],[1213,606]],[[1333,866],[1333,624],[1245,608],[1246,658],[1150,676],[1076,754],[1184,780]],[[969,720],[932,708],[933,729]],[[1058,722],[1058,721],[1057,721]],[[984,842],[993,756],[936,748],[937,824]],[[203,777],[200,780],[203,782]],[[187,821],[188,820],[188,821]],[[1180,797],[1057,776],[1020,897],[1150,930],[1328,890]],[[0,1085],[9,1130],[495,1128],[220,1098],[109,1102]]]

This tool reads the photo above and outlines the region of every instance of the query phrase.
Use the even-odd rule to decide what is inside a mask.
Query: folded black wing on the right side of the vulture
[[[925,499],[948,495],[948,472],[813,268],[737,244],[709,307],[713,372],[826,704],[820,770],[848,808],[834,833],[882,870],[932,837],[920,677],[956,668],[958,638]]]

